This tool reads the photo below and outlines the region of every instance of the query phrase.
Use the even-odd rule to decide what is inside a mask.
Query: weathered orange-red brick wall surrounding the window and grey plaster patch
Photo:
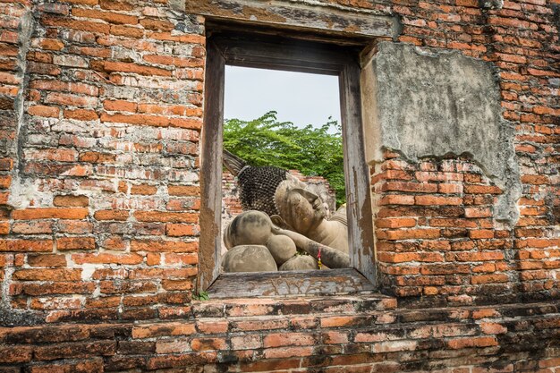
[[[169,3],[0,2],[1,372],[560,371],[556,0],[313,5],[397,14],[400,42],[496,66],[521,217],[493,219],[504,191],[469,158],[387,151],[386,296],[208,302],[204,19]]]

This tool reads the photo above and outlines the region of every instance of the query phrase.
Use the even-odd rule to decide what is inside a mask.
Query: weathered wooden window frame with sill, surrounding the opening
[[[276,32],[275,32],[276,33]],[[369,166],[365,162],[361,119],[362,47],[219,28],[208,32],[204,125],[200,140],[199,291],[214,297],[370,292],[377,285]],[[299,36],[301,37],[301,36]],[[222,215],[222,134],[225,65],[339,77],[344,142],[344,175],[352,268],[330,271],[220,274]],[[311,273],[313,272],[313,273]],[[293,291],[301,277],[314,279],[307,290]],[[213,284],[215,283],[215,284]],[[250,289],[247,284],[252,284]],[[284,287],[283,287],[284,286]],[[296,286],[297,287],[297,286]],[[220,290],[221,289],[221,290]],[[237,289],[237,291],[235,291]],[[271,290],[272,289],[272,290]],[[274,290],[276,289],[276,290]],[[278,290],[278,289],[284,289]],[[208,290],[208,291],[210,291]],[[301,293],[302,292],[302,293]]]

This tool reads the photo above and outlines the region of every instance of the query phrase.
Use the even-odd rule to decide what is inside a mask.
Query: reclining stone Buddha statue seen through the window
[[[318,195],[308,191],[305,183],[285,170],[270,166],[248,166],[226,150],[224,163],[238,178],[242,208],[246,210],[242,218],[236,216],[224,234],[225,246],[234,249],[225,254],[225,271],[248,272],[248,268],[254,269],[250,272],[271,270],[270,260],[263,259],[266,255],[261,255],[260,250],[263,249],[257,250],[252,245],[270,250],[280,270],[318,269],[316,259],[319,255],[321,262],[329,268],[349,267],[344,207],[327,220],[325,207]],[[259,216],[257,211],[264,212],[270,218]],[[236,239],[237,236],[246,235],[260,238]],[[266,240],[262,237],[266,237]],[[295,250],[285,238],[289,238],[294,246],[310,254],[313,259],[295,255]],[[240,245],[247,248],[239,249]],[[273,246],[276,249],[271,249]],[[293,257],[283,262],[285,258],[278,260],[275,250],[282,251],[284,257],[288,252],[293,252]],[[259,252],[260,259],[256,259],[256,252]],[[236,259],[233,260],[233,257]]]

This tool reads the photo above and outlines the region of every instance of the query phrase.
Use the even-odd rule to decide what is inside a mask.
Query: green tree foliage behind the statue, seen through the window
[[[228,119],[224,125],[224,148],[250,165],[276,165],[323,176],[335,190],[336,204],[345,202],[342,128],[329,120],[321,127],[299,128],[278,122],[270,111],[252,121]],[[329,133],[334,129],[334,133]]]

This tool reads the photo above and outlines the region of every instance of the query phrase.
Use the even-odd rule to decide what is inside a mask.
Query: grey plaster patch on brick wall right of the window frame
[[[369,163],[392,149],[414,161],[467,156],[504,193],[495,217],[514,223],[521,181],[513,125],[502,117],[490,64],[459,52],[383,42],[362,81]]]

